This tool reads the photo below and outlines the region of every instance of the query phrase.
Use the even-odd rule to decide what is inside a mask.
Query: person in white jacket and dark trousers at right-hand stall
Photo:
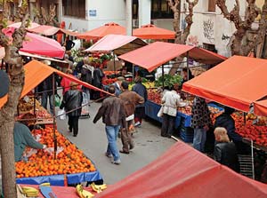
[[[180,107],[180,95],[171,87],[161,99],[163,107],[161,136],[171,138],[174,131],[174,123],[177,115],[177,107]]]

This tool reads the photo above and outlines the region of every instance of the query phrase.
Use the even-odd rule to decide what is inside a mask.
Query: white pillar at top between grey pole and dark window
[[[151,21],[151,0],[139,0],[138,16],[139,28],[142,25],[150,24]]]

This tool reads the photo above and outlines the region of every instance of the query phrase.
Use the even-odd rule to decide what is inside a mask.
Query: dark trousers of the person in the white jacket
[[[163,114],[162,116],[162,126],[161,126],[161,136],[171,137],[174,131],[175,116]]]

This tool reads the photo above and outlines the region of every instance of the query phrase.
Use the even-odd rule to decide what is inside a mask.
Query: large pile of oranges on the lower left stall
[[[53,130],[32,131],[34,135],[42,135],[40,143],[47,147],[53,147]],[[28,162],[16,162],[17,178],[39,177],[57,174],[71,174],[78,172],[95,171],[93,163],[75,145],[65,139],[60,132],[56,131],[57,146],[64,150],[57,154],[57,159],[53,159],[53,154],[49,154],[43,149],[39,149],[36,154],[28,158]]]

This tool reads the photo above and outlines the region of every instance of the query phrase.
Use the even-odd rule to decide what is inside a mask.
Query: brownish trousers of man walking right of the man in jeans
[[[134,140],[132,134],[129,131],[129,126],[133,124],[133,120],[126,121],[125,129],[121,130],[121,142],[123,144],[123,151],[129,152],[129,149],[134,148]]]

